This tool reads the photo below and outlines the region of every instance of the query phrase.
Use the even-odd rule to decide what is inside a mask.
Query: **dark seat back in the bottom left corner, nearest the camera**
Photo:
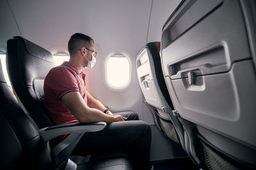
[[[0,169],[52,169],[51,155],[35,122],[20,108],[0,64]]]

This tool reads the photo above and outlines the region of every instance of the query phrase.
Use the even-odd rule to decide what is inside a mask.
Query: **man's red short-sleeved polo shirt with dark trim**
[[[61,101],[68,92],[80,92],[87,104],[85,74],[70,62],[49,71],[44,81],[44,106],[55,124],[79,122]]]

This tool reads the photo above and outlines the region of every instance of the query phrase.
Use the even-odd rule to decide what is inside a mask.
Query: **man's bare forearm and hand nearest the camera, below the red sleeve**
[[[72,112],[72,114],[82,123],[90,122],[119,122],[127,118],[118,116],[107,115],[102,111],[95,108],[90,108],[86,105],[81,94],[77,91],[68,92],[61,97],[61,100]]]

